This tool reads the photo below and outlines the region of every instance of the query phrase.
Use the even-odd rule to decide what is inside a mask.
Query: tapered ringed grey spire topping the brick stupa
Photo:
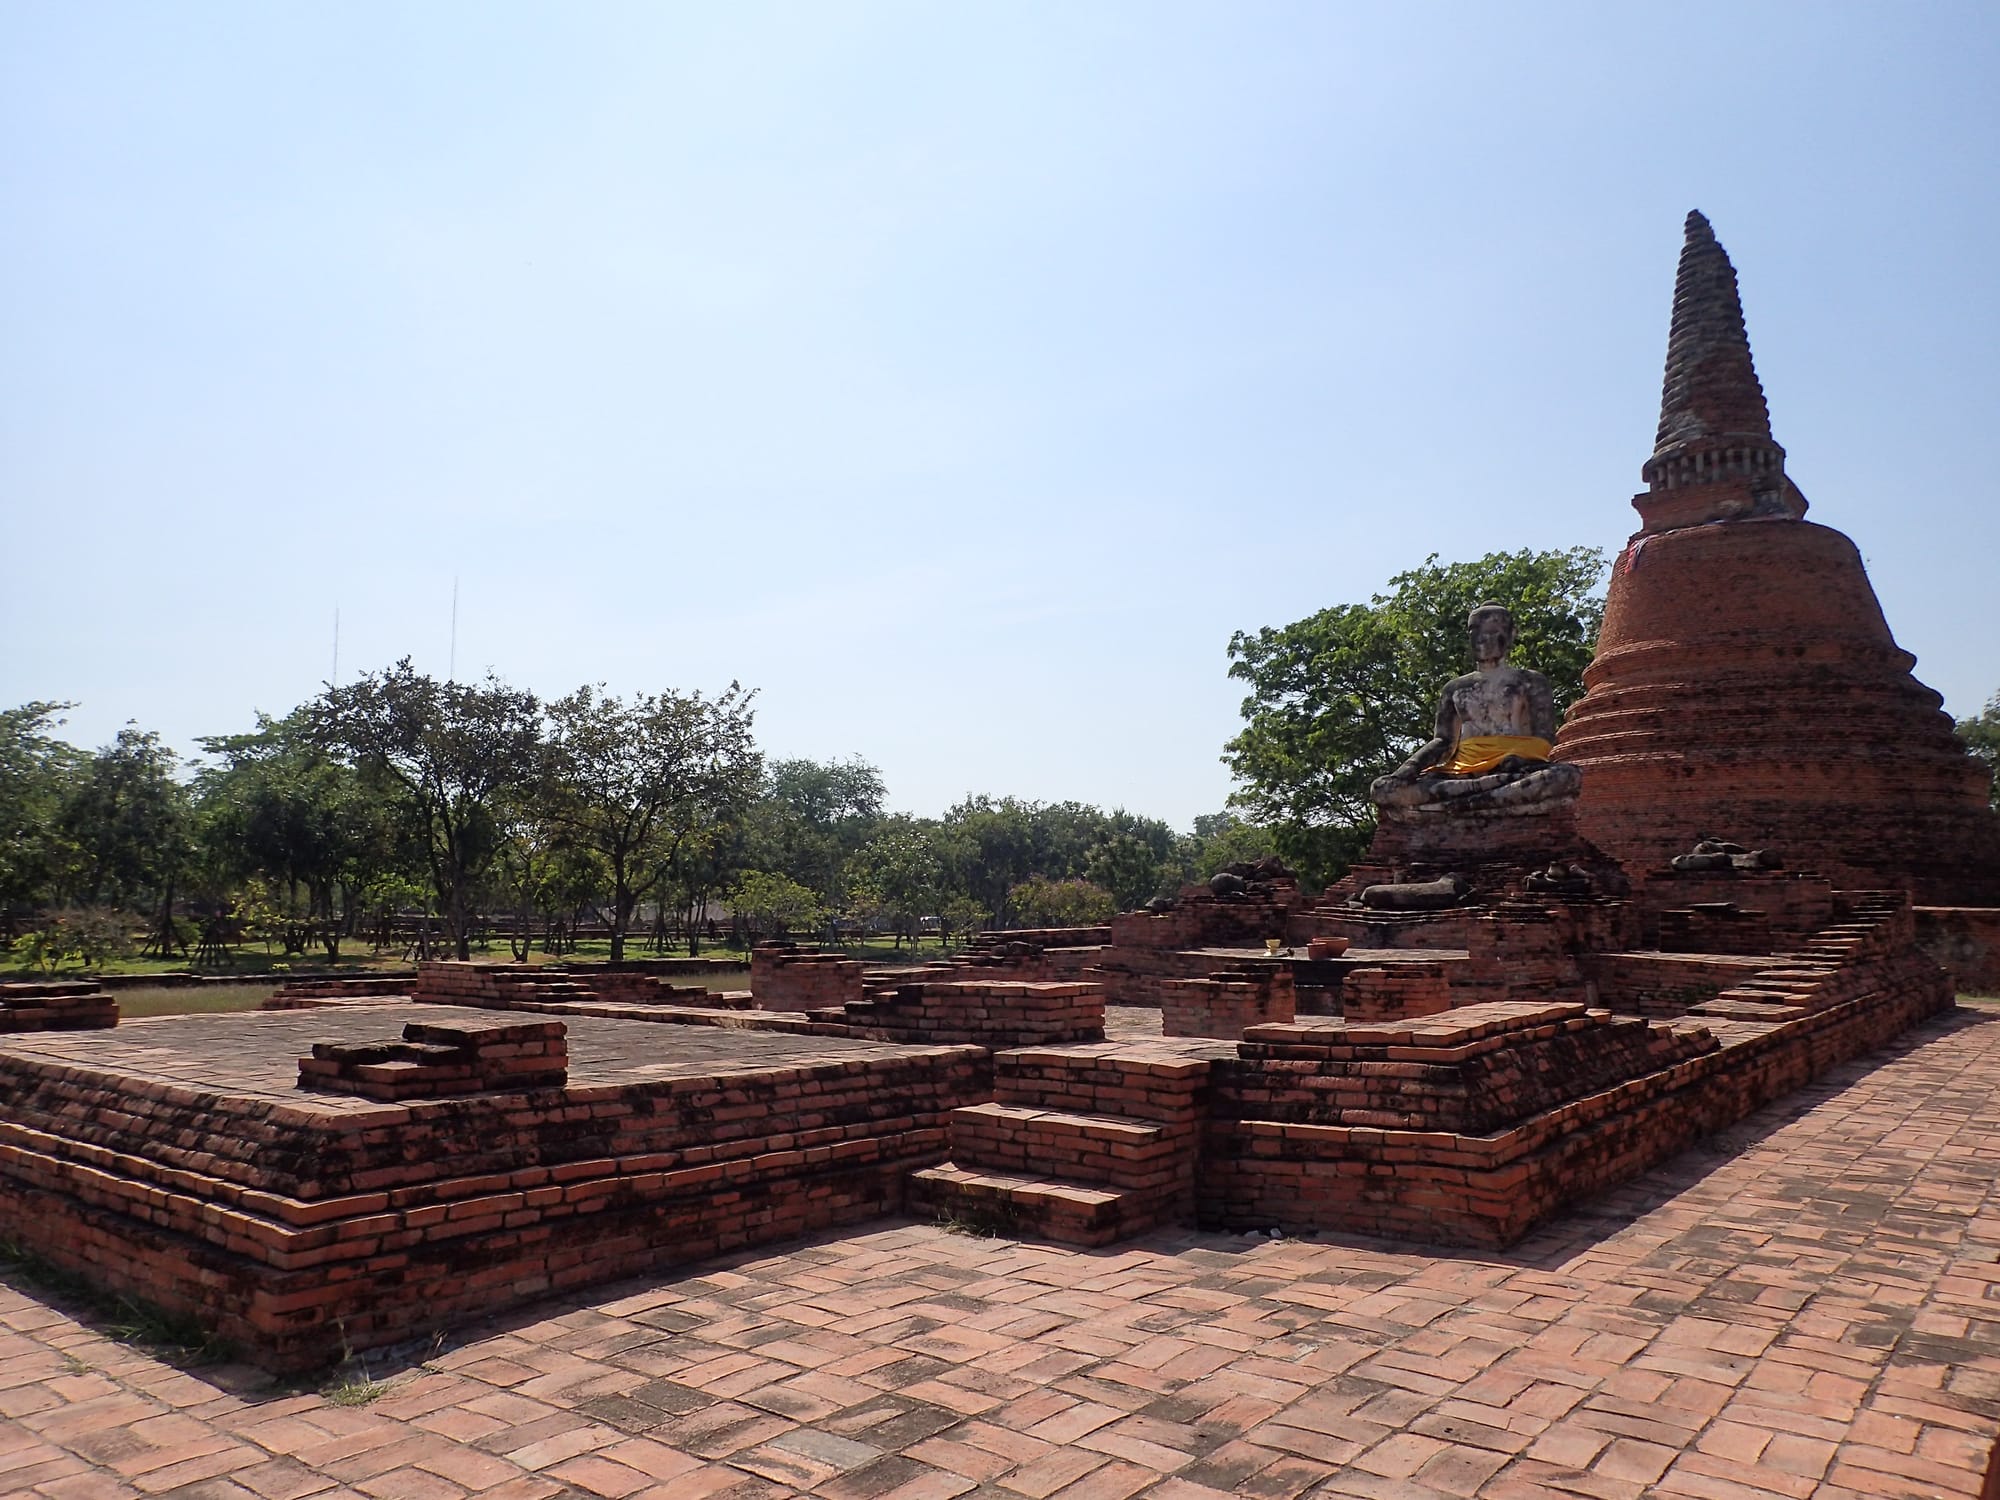
[[[1676,496],[1658,508],[1664,524],[1806,514],[1806,498],[1784,478],[1784,448],[1770,436],[1770,408],[1750,362],[1736,266],[1698,210],[1688,214],[1674,274],[1660,436],[1642,476],[1654,494],[1710,484],[1728,490],[1700,502]],[[1642,514],[1650,510],[1640,504]]]

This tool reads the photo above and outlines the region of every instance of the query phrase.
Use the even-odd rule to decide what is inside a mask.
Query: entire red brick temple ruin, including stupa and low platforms
[[[1950,1006],[1940,910],[1970,974],[1992,936],[1970,762],[1802,520],[1698,216],[1660,432],[1554,758],[1410,772],[1328,890],[912,968],[768,946],[734,992],[444,962],[116,1026],[6,986],[0,1234],[280,1370],[896,1212],[1514,1244]],[[1850,742],[1798,738],[1828,702]]]

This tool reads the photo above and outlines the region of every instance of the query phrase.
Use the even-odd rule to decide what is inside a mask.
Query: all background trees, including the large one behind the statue
[[[134,934],[194,958],[244,936],[336,958],[412,930],[462,956],[496,928],[516,956],[580,928],[622,956],[696,950],[722,912],[730,936],[898,944],[1090,924],[1272,852],[1312,888],[1366,850],[1368,782],[1428,738],[1468,666],[1466,612],[1512,608],[1514,656],[1560,710],[1584,690],[1602,578],[1586,548],[1432,556],[1366,604],[1238,632],[1248,696],[1222,756],[1238,790],[1188,832],[992,796],[890,814],[866,760],[766,760],[738,686],[542,702],[404,660],[206,738],[192,764],[138,728],[86,754],[54,734],[68,704],[22,704],[0,712],[0,920],[44,962]],[[2000,696],[1958,732],[2000,768]]]

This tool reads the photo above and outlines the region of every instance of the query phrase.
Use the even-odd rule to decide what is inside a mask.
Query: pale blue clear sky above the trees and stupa
[[[760,690],[890,800],[1222,806],[1232,630],[1616,550],[1680,222],[2000,688],[1986,4],[0,4],[0,700]]]

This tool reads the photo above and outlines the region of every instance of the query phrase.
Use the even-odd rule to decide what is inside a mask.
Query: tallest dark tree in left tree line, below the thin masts
[[[320,744],[388,778],[422,848],[452,950],[472,956],[472,894],[500,848],[496,802],[542,774],[542,716],[532,692],[438,682],[404,656],[308,704]]]

